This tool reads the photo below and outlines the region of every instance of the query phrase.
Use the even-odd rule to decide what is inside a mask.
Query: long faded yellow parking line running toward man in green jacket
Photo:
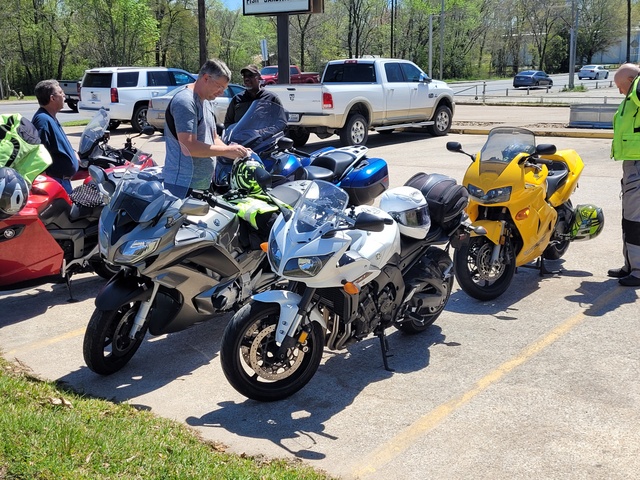
[[[620,295],[622,289],[614,288],[607,294],[599,297],[593,303],[590,310],[598,309],[607,305],[615,296]],[[451,413],[470,402],[473,397],[482,393],[494,383],[498,382],[509,372],[519,367],[531,357],[548,347],[556,340],[571,331],[574,327],[582,323],[587,316],[584,312],[578,313],[558,325],[551,330],[546,336],[529,347],[525,348],[520,355],[504,362],[498,368],[481,378],[470,390],[452,398],[419,418],[409,427],[405,428],[398,435],[379,446],[376,450],[362,459],[360,465],[354,469],[353,475],[356,478],[364,478],[369,474],[376,472],[379,468],[391,462],[398,455],[415,444],[415,441],[425,433],[434,429],[440,422],[447,418]]]

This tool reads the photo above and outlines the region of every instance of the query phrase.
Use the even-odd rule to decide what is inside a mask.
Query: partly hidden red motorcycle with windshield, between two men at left
[[[97,165],[108,169],[131,163],[146,168],[156,165],[150,153],[145,153],[133,145],[133,139],[140,135],[153,135],[154,128],[150,125],[134,136],[127,136],[123,148],[113,148],[109,145],[111,135],[108,130],[109,114],[101,108],[82,131],[78,145],[80,165],[71,180],[84,180],[89,177],[89,166]]]

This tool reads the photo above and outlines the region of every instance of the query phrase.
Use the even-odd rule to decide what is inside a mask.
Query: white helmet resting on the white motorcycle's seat
[[[387,190],[380,197],[380,208],[398,222],[400,233],[422,240],[431,227],[429,206],[422,192],[413,187]]]

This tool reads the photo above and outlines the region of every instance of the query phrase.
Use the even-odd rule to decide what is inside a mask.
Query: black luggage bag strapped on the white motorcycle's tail
[[[445,230],[459,223],[459,217],[469,203],[467,189],[440,173],[416,173],[405,185],[422,192],[429,204],[431,221]]]

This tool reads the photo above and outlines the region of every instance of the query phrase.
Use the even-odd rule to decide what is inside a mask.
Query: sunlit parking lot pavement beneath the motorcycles
[[[391,186],[418,171],[460,181],[468,159],[446,151],[450,140],[475,152],[485,137],[373,134],[369,155],[387,160]],[[151,142],[160,148],[162,139],[147,149]],[[639,291],[606,277],[622,261],[621,166],[607,139],[544,143],[582,156],[573,202],[604,209],[603,233],[552,262],[560,275],[520,268],[496,300],[473,300],[456,285],[427,332],[389,332],[394,372],[371,338],[326,351],[293,397],[250,401],[220,368],[224,318],[148,336],[125,369],[98,377],[82,359],[103,284],[92,275],[73,280],[75,302],[63,284],[0,295],[0,348],[44,378],[184,422],[232,452],[301,459],[345,479],[637,478]]]

